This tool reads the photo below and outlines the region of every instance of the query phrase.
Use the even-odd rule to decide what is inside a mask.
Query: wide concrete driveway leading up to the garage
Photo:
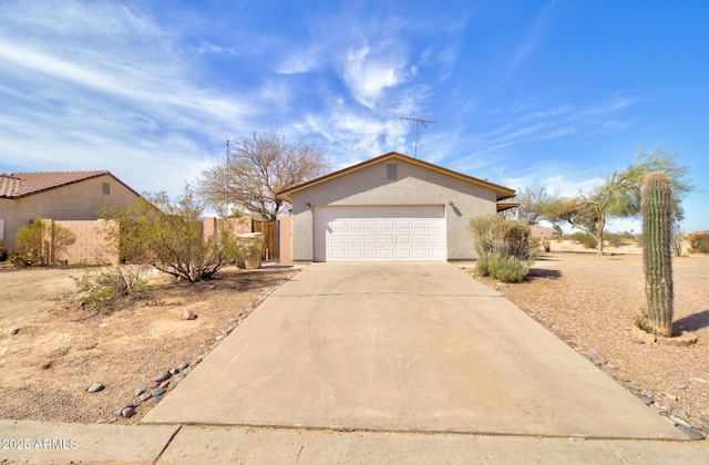
[[[449,264],[315,264],[142,421],[687,440]]]

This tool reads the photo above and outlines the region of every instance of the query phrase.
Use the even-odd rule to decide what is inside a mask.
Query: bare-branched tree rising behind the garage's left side
[[[227,203],[265,220],[275,220],[284,200],[276,195],[326,174],[330,165],[307,138],[289,143],[277,131],[239,138],[225,158],[202,172],[196,194],[217,211]],[[226,211],[227,215],[229,211]]]

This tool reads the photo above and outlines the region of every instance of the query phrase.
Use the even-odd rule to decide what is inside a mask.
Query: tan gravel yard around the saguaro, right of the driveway
[[[640,255],[544,254],[525,282],[482,281],[637,395],[649,393],[692,421],[709,416],[709,257],[674,260],[674,326],[699,337],[691,347],[631,341],[645,304]]]

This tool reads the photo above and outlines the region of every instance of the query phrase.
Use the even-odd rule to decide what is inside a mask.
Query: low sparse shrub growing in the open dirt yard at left
[[[86,270],[81,278],[71,277],[82,293],[82,304],[103,308],[123,298],[132,298],[147,289],[145,275],[150,267],[123,265]]]

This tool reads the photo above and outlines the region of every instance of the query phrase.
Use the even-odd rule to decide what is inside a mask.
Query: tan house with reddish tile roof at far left
[[[11,249],[34,218],[92,220],[101,208],[127,208],[138,197],[109,172],[0,173],[0,239]]]

